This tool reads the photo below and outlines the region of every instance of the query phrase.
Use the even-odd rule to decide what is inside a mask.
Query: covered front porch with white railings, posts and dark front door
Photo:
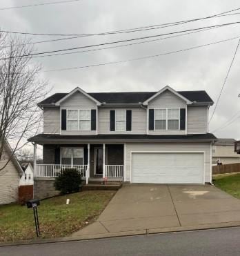
[[[57,177],[76,168],[86,184],[91,179],[122,181],[123,144],[44,144],[43,164],[34,164],[35,177]]]

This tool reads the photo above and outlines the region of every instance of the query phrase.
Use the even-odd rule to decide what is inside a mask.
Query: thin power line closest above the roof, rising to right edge
[[[201,46],[194,46],[194,47],[185,48],[185,49],[182,49],[182,50],[175,50],[175,51],[172,51],[172,52],[164,52],[164,53],[161,53],[161,54],[158,54],[158,55],[150,55],[150,56],[138,57],[138,58],[134,58],[134,59],[126,59],[126,60],[122,60],[122,61],[111,61],[111,62],[106,62],[106,63],[88,65],[88,66],[78,66],[78,67],[72,67],[72,68],[59,68],[59,69],[52,69],[52,70],[43,70],[43,72],[76,70],[76,69],[81,69],[81,68],[92,68],[92,67],[97,67],[97,66],[105,66],[105,65],[112,65],[112,64],[117,64],[117,63],[124,63],[124,62],[128,62],[128,61],[139,61],[141,59],[151,59],[151,58],[160,57],[160,56],[163,56],[163,55],[171,55],[171,54],[174,54],[174,53],[177,53],[177,52],[185,52],[187,50],[193,50],[193,49],[197,49],[197,48],[201,48],[201,47],[205,47],[205,46],[211,46],[211,45],[214,45],[214,44],[217,44],[217,43],[222,43],[222,42],[231,41],[231,40],[234,40],[234,39],[239,39],[239,37],[233,37],[231,39],[215,41],[215,42],[212,42],[212,43],[206,43],[206,44],[203,44]]]

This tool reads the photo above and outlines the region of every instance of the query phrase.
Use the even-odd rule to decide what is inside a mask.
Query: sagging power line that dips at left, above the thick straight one
[[[21,34],[21,35],[41,35],[41,36],[61,36],[61,37],[72,37],[72,36],[77,36],[77,37],[90,37],[90,36],[96,36],[96,35],[112,35],[112,34],[119,34],[119,33],[129,33],[129,32],[139,32],[143,30],[152,30],[152,29],[159,29],[159,28],[166,28],[168,26],[176,26],[176,25],[181,25],[183,23],[189,23],[193,21],[199,21],[202,19],[210,19],[210,18],[216,18],[216,17],[221,17],[221,16],[227,16],[231,15],[228,14],[229,12],[234,12],[236,10],[240,10],[240,8],[235,8],[232,10],[228,10],[226,12],[221,12],[219,14],[213,14],[208,17],[203,17],[203,18],[198,18],[198,19],[189,19],[189,20],[183,20],[183,21],[174,21],[170,23],[161,23],[158,25],[151,25],[151,26],[143,26],[139,28],[128,28],[125,30],[113,30],[113,31],[108,31],[108,32],[100,32],[100,33],[89,33],[89,34],[50,34],[50,33],[30,33],[30,32],[17,32],[17,31],[8,31],[8,30],[0,30],[0,32],[6,32],[6,33],[11,33],[11,34]],[[225,15],[223,15],[225,14]],[[161,26],[161,27],[159,27]],[[155,28],[159,27],[159,28]]]

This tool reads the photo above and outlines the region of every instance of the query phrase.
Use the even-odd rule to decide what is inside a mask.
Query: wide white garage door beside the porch
[[[202,184],[203,153],[132,152],[132,183]]]

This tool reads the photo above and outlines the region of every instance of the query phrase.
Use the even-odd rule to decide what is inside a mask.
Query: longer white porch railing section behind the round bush
[[[76,168],[81,177],[86,177],[88,165],[68,165],[68,164],[37,164],[36,177],[57,177],[60,175],[61,170]]]

